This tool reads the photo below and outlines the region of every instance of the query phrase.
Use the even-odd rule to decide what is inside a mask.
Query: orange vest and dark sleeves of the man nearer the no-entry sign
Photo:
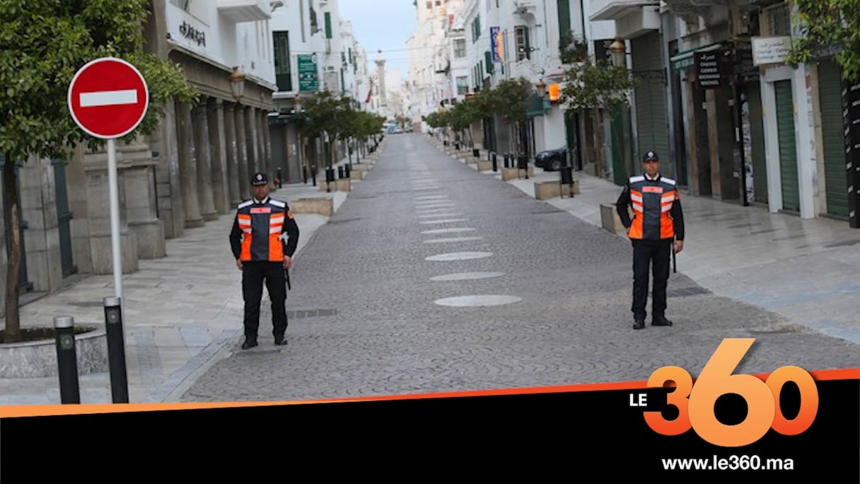
[[[237,208],[230,231],[233,256],[243,262],[281,262],[292,257],[298,245],[298,225],[285,202],[268,198],[262,203],[253,199]]]

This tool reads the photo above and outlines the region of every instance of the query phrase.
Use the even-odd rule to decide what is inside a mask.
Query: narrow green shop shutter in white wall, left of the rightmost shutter
[[[777,97],[777,142],[779,173],[783,183],[783,209],[800,212],[801,198],[797,185],[797,149],[795,145],[795,104],[791,81],[774,83]]]

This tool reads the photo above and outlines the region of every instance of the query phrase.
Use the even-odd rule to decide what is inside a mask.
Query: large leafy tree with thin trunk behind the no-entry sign
[[[3,0],[0,2],[0,154],[3,155],[3,220],[6,294],[3,341],[23,338],[19,313],[21,232],[15,167],[32,155],[68,159],[86,143],[71,117],[66,95],[71,78],[93,59],[117,57],[135,65],[150,94],[144,121],[126,135],[149,134],[170,100],[196,102],[178,65],[144,51],[148,0]]]

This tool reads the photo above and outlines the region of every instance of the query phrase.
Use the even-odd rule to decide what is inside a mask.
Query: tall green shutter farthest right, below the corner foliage
[[[842,125],[842,75],[830,59],[818,66],[824,183],[827,214],[848,217],[848,179],[845,176],[845,132]]]

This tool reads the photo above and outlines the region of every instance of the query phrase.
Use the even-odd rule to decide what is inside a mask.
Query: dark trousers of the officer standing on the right
[[[644,319],[648,302],[648,270],[654,276],[651,309],[655,315],[666,313],[666,287],[673,239],[631,240],[633,245],[633,316]]]

